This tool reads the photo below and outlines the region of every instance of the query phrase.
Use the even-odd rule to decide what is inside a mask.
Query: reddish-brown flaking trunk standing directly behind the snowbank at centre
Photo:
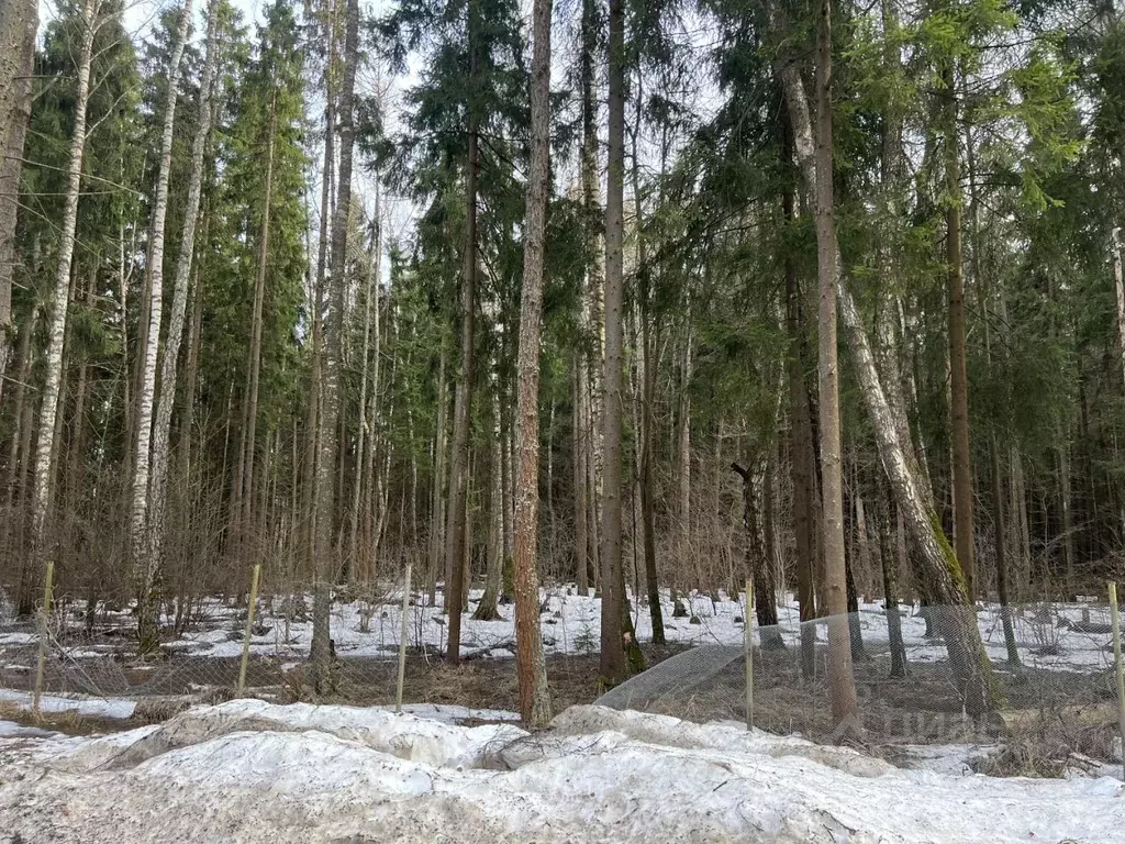
[[[532,6],[531,158],[524,223],[523,290],[516,357],[515,647],[520,713],[544,727],[551,718],[539,630],[539,336],[543,312],[543,251],[550,192],[551,0]]]

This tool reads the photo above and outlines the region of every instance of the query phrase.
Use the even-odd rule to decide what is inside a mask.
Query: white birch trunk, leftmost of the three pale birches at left
[[[74,96],[74,129],[71,136],[70,160],[66,167],[66,196],[58,236],[58,264],[50,304],[47,354],[43,384],[43,403],[39,410],[39,433],[35,452],[35,483],[29,511],[32,513],[32,557],[46,563],[51,555],[45,529],[52,506],[52,466],[55,463],[55,421],[60,411],[63,379],[63,343],[70,315],[70,278],[74,260],[75,228],[78,226],[79,189],[82,182],[82,159],[86,152],[86,113],[90,100],[90,66],[93,62],[93,37],[99,26],[101,0],[83,0],[82,46],[78,57],[78,90]],[[30,424],[25,427],[30,433]],[[24,449],[27,454],[27,449]],[[22,497],[21,497],[22,500]]]

